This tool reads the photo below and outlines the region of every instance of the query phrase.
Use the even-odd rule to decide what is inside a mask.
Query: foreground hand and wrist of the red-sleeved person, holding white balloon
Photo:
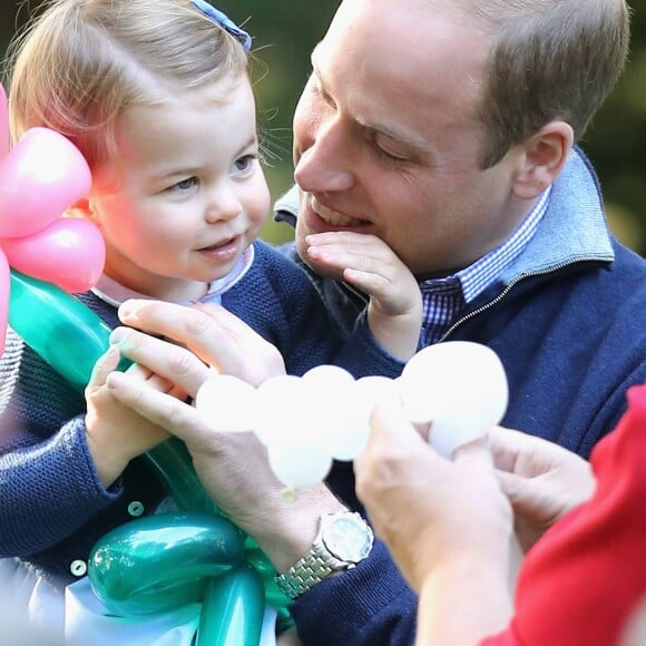
[[[356,492],[419,594],[420,644],[477,644],[511,615],[512,513],[482,441],[437,453],[394,402],[372,414]]]

